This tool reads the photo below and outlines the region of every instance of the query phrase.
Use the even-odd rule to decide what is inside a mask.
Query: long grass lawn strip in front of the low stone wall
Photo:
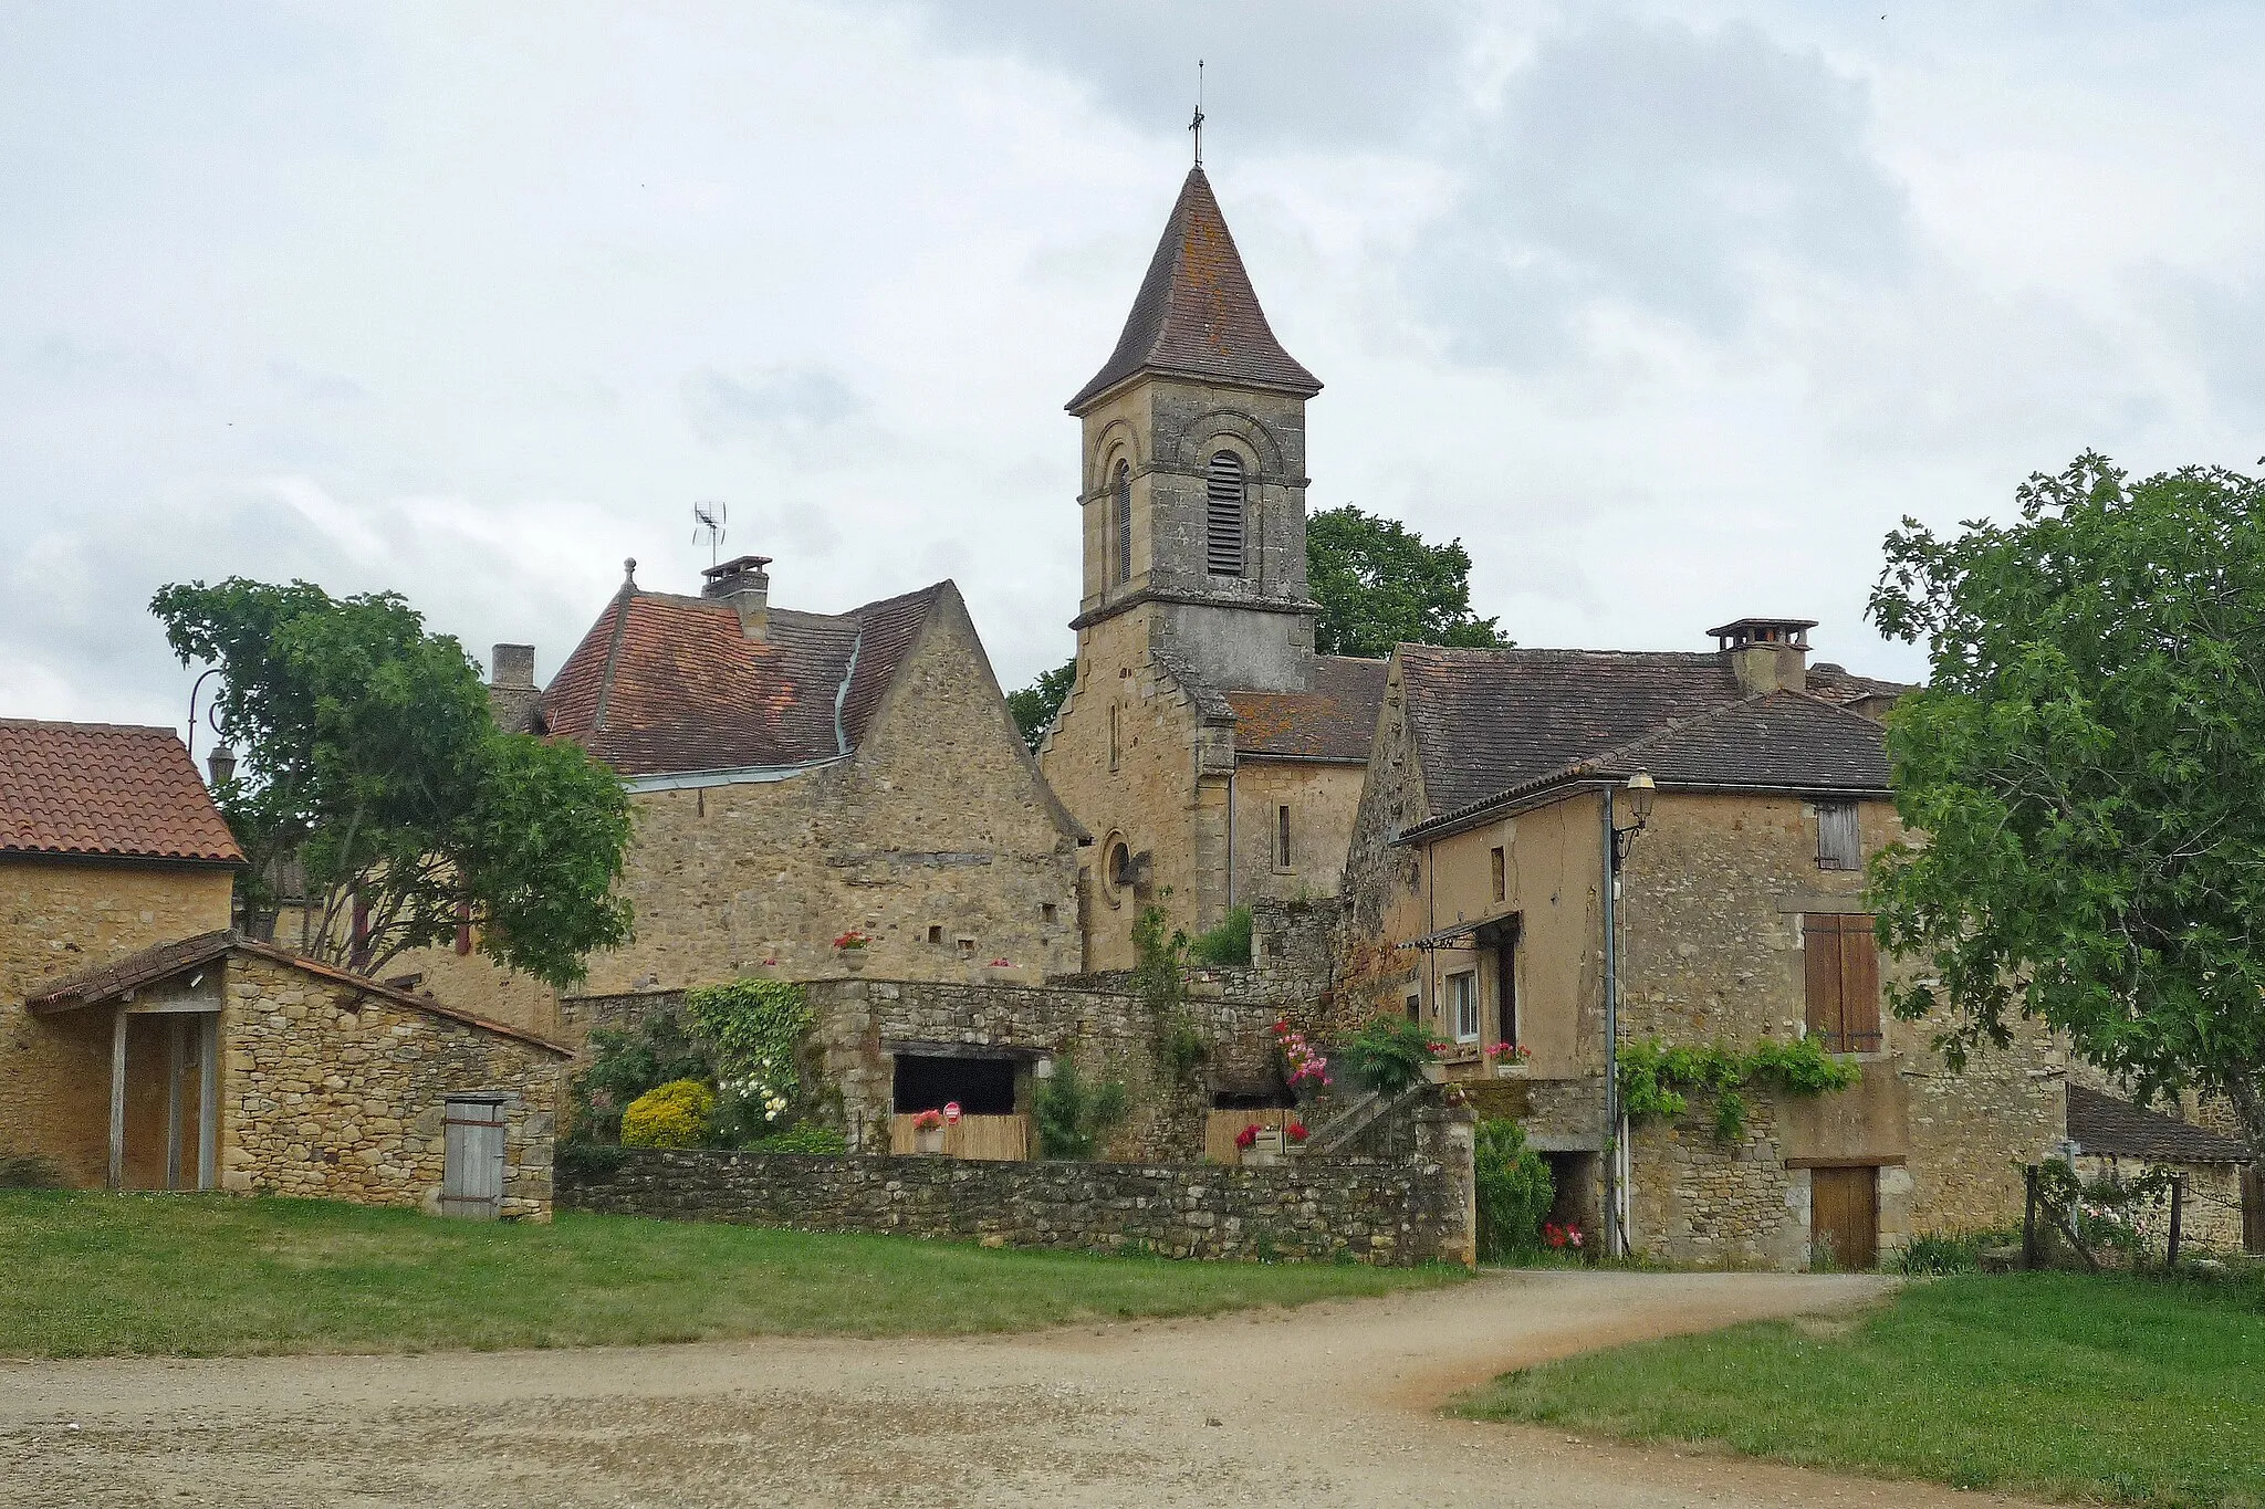
[[[0,1355],[612,1346],[1024,1330],[1364,1299],[1459,1269],[1171,1262],[224,1195],[0,1192]]]

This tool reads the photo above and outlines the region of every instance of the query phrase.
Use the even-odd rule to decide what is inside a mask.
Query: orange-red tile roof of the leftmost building
[[[0,719],[0,853],[245,857],[172,728],[14,717]]]

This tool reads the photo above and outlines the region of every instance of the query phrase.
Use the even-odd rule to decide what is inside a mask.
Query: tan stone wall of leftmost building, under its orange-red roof
[[[233,882],[233,869],[211,864],[0,860],[0,1154],[39,1154],[72,1185],[102,1185],[109,1014],[36,1018],[23,1002],[48,980],[226,928]]]

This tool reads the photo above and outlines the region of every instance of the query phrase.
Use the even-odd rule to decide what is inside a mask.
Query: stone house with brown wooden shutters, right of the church
[[[2072,1086],[2038,1025],[1952,1072],[1932,1023],[1882,1011],[1882,977],[1914,964],[1880,959],[1862,898],[1864,862],[1900,837],[1866,713],[1903,688],[1807,667],[1810,627],[1740,620],[1712,654],[1402,645],[1386,674],[1345,1011],[1429,1025],[1479,1106],[1552,1161],[1561,1215],[1595,1222],[1617,1195],[1629,1242],[1674,1260],[1869,1267],[1918,1233],[2002,1226],[2016,1165],[2068,1152],[2086,1109],[2145,1115]],[[1749,1088],[1728,1145],[1699,1093],[1674,1122],[1615,1129],[1615,977],[1622,1045],[1819,1036],[1862,1081]],[[1495,1077],[1493,1043],[1531,1063]]]

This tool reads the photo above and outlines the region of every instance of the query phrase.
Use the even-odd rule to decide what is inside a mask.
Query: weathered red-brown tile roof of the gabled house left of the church
[[[623,588],[537,704],[539,726],[623,776],[777,769],[865,738],[949,581],[849,613],[772,609],[763,640],[729,602]]]

